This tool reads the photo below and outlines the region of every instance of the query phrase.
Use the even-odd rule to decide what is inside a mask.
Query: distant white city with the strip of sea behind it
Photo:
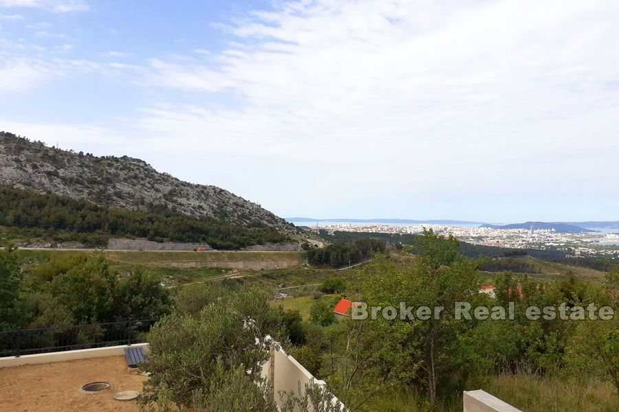
[[[453,234],[458,240],[471,244],[510,249],[563,251],[566,258],[614,257],[619,253],[619,228],[616,227],[616,222],[588,222],[591,228],[556,224],[556,227],[567,228],[566,230],[570,228],[581,229],[581,231],[568,232],[558,230],[552,224],[543,222],[537,222],[540,227],[544,227],[539,229],[535,224],[529,225],[528,223],[498,227],[481,222],[457,220],[428,220],[424,222],[401,219],[369,221],[290,218],[288,221],[297,226],[310,227],[312,231],[322,230],[329,234],[335,231],[415,234],[422,233],[424,229],[433,229],[437,233]],[[599,225],[601,223],[612,223],[612,225]],[[547,227],[551,228],[548,229]]]

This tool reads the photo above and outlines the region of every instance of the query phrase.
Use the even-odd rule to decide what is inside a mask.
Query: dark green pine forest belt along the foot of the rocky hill
[[[240,225],[176,211],[127,210],[56,194],[0,185],[0,226],[13,236],[105,246],[110,237],[206,242],[217,249],[285,242],[287,234],[262,222]]]

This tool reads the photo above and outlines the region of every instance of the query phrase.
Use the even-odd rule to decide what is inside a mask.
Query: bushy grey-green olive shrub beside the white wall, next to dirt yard
[[[197,290],[195,289],[195,295]],[[255,288],[216,297],[209,295],[199,312],[173,312],[149,335],[149,371],[146,400],[169,390],[173,402],[190,402],[195,391],[211,387],[217,374],[243,367],[259,379],[259,363],[268,358],[261,345],[266,334],[282,337],[279,311],[269,306],[271,294]],[[189,313],[188,313],[189,312]]]

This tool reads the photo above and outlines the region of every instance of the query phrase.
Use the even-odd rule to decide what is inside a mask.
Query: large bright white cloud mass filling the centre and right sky
[[[342,181],[462,195],[553,172],[558,192],[582,176],[598,190],[619,178],[598,167],[619,149],[618,19],[615,1],[284,3],[221,26],[236,43],[208,64],[150,62],[153,84],[234,105],[149,108],[140,124],[195,156],[330,165],[338,185],[299,199]]]

